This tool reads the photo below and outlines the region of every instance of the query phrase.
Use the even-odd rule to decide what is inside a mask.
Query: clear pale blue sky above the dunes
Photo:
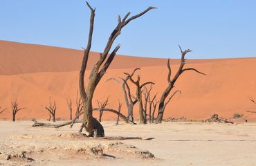
[[[96,8],[91,50],[101,52],[122,17],[152,10],[132,21],[116,40],[118,54],[178,58],[256,57],[255,0],[88,0]],[[82,0],[0,0],[0,39],[79,49],[89,30]]]

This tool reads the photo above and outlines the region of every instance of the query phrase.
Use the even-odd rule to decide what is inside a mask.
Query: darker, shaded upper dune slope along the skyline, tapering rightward
[[[79,71],[82,55],[82,50],[0,40],[0,75]],[[99,56],[99,53],[91,52],[87,69],[92,68]],[[192,59],[190,63],[224,60],[226,59]],[[166,59],[117,55],[109,68],[162,66],[165,63]],[[172,60],[172,64],[177,63],[179,63],[178,59]]]

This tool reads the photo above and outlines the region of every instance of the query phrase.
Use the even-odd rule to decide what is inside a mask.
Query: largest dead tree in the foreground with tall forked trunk
[[[111,47],[113,45],[113,42],[115,41],[116,37],[118,37],[121,33],[122,28],[124,28],[127,24],[129,24],[130,21],[144,15],[149,10],[154,9],[154,7],[149,7],[145,11],[141,12],[138,15],[134,15],[133,17],[129,17],[131,12],[128,12],[127,15],[123,19],[121,19],[120,16],[118,16],[118,25],[113,30],[111,35],[109,36],[109,40],[104,48],[103,53],[100,54],[100,59],[98,59],[98,62],[93,66],[91,70],[91,74],[89,76],[88,84],[84,86],[84,73],[86,69],[86,65],[88,62],[89,52],[91,49],[91,41],[93,36],[93,23],[94,23],[94,17],[95,17],[95,8],[91,8],[88,2],[86,2],[88,8],[91,10],[91,18],[90,18],[90,28],[89,28],[89,38],[86,48],[84,49],[84,57],[82,59],[82,66],[80,70],[80,79],[79,79],[79,88],[80,88],[80,95],[83,101],[83,107],[84,107],[84,122],[81,126],[80,132],[82,132],[82,129],[85,128],[85,130],[89,133],[89,136],[96,136],[96,137],[104,137],[104,129],[100,122],[98,120],[95,120],[93,118],[93,106],[92,106],[92,100],[93,100],[93,93],[95,91],[96,86],[100,82],[100,79],[106,73],[107,68],[109,68],[109,65],[111,64],[113,58],[116,55],[116,52],[119,50],[120,45],[116,46],[112,50],[112,52],[109,54],[109,51],[111,50]],[[104,64],[103,64],[104,63]]]

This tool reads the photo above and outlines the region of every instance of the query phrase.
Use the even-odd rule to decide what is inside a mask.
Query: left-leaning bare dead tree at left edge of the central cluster
[[[131,77],[134,75],[134,73],[140,70],[140,68],[135,68],[134,71],[131,73]],[[116,78],[109,78],[107,81],[109,80],[114,80],[116,82],[118,82],[118,84],[120,84],[122,86],[122,92],[124,93],[124,98],[125,98],[125,105],[127,107],[127,113],[128,113],[128,118],[131,122],[134,122],[134,105],[137,103],[138,100],[132,100],[131,99],[131,89],[129,88],[129,85],[127,84],[127,81],[129,80],[129,77],[119,77],[120,80],[117,80]]]

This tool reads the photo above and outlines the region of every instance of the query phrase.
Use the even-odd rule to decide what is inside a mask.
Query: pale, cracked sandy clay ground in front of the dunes
[[[102,122],[102,140],[62,127],[35,128],[30,121],[0,121],[0,165],[255,165],[256,124]],[[145,138],[154,138],[145,140]],[[152,154],[154,154],[154,157]],[[6,160],[10,155],[10,159]]]

